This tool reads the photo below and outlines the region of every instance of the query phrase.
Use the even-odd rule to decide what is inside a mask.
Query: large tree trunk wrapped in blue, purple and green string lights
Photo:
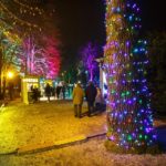
[[[128,149],[154,144],[151,93],[146,82],[146,41],[138,0],[106,0],[105,70],[108,84],[108,139]]]

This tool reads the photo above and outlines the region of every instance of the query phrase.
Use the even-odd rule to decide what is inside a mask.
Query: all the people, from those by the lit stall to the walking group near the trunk
[[[46,83],[44,87],[44,95],[48,98],[48,103],[50,102],[51,96],[56,96],[56,98],[60,98],[60,94],[62,95],[61,97],[65,100],[65,90],[66,87],[63,86],[56,86],[53,89],[49,83]],[[39,101],[40,97],[40,91],[38,87],[31,86],[31,92],[32,92],[32,98],[33,103]],[[74,115],[75,117],[82,117],[82,105],[84,102],[84,98],[87,102],[87,116],[91,117],[94,112],[102,112],[105,111],[106,104],[105,100],[102,95],[102,91],[100,87],[95,86],[93,82],[89,82],[85,90],[81,86],[81,83],[77,83],[73,87],[73,105],[74,105]]]

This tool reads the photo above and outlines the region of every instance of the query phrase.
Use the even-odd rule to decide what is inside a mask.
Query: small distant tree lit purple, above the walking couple
[[[97,46],[89,42],[83,49],[81,49],[81,56],[84,69],[89,73],[89,80],[93,81],[94,72],[97,68],[95,59],[98,55]]]

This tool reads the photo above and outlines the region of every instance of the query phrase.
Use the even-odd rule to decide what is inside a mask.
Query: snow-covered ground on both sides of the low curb
[[[84,105],[83,112],[86,112]],[[0,154],[19,147],[63,141],[105,132],[105,114],[81,120],[71,102],[54,101],[23,105],[11,103],[0,112]],[[59,149],[0,155],[0,166],[165,166],[166,155],[116,155],[104,139],[92,139]]]

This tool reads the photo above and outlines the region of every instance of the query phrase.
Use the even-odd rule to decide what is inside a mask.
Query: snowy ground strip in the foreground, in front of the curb
[[[0,156],[0,166],[165,166],[166,155],[116,155],[106,152],[104,141],[29,155]]]

